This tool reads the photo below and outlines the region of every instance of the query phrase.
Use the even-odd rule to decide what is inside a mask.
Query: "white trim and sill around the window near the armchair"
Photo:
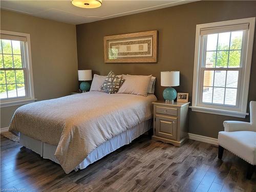
[[[243,79],[241,82],[243,84],[240,85],[240,103],[239,108],[232,108],[232,107],[225,107],[221,106],[218,107],[205,107],[200,105],[199,98],[200,98],[200,46],[202,46],[202,36],[200,35],[200,31],[203,28],[214,28],[220,26],[228,26],[228,25],[239,25],[239,24],[249,24],[248,30],[248,41],[246,42],[246,55],[245,56],[245,66]],[[200,24],[196,27],[196,43],[195,43],[195,60],[194,60],[194,77],[193,77],[193,99],[192,99],[192,106],[190,106],[192,111],[202,112],[202,113],[210,113],[210,114],[217,114],[217,115],[225,115],[225,116],[232,116],[232,117],[240,117],[245,118],[248,113],[247,110],[247,100],[248,100],[248,92],[249,92],[249,80],[250,80],[250,68],[251,68],[251,57],[252,57],[252,47],[253,47],[253,37],[254,37],[254,28],[255,28],[255,17],[250,18],[242,18],[236,20],[227,20],[224,22],[215,22],[209,24]],[[214,104],[212,104],[214,106]]]

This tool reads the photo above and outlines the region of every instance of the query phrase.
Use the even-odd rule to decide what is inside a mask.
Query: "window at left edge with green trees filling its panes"
[[[1,107],[34,101],[29,34],[1,31]]]

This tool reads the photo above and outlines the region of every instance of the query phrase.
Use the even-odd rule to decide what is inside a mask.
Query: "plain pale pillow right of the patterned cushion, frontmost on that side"
[[[152,75],[122,75],[125,79],[117,93],[127,93],[147,96],[148,85]]]

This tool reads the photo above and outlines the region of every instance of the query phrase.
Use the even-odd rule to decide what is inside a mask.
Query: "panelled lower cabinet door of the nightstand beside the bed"
[[[156,135],[177,139],[177,118],[156,115]]]

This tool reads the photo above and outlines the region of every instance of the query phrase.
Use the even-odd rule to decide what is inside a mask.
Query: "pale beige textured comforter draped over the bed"
[[[68,174],[103,142],[152,118],[155,95],[87,92],[18,108],[9,131],[57,146]]]

